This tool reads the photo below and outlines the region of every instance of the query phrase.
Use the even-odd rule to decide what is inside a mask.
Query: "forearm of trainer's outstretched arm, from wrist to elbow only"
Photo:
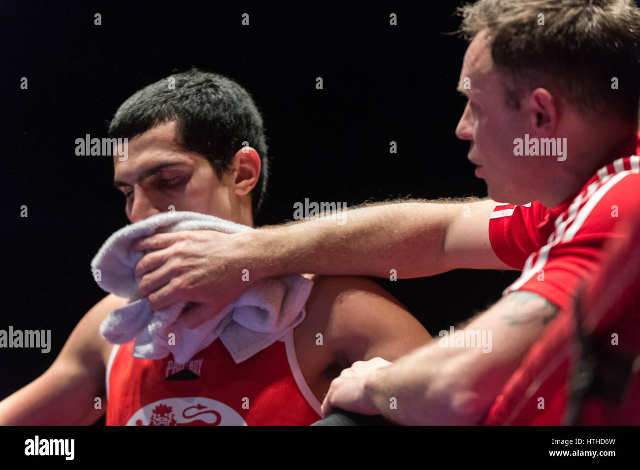
[[[344,223],[294,222],[262,228],[247,237],[265,248],[260,263],[270,276],[309,272],[388,277],[392,269],[397,278],[431,276],[442,272],[445,235],[457,206],[370,205],[341,214]]]

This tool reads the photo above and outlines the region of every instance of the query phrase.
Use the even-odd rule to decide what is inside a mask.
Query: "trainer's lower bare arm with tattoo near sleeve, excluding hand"
[[[531,292],[506,295],[465,327],[492,332],[489,352],[442,347],[436,338],[372,373],[365,393],[381,414],[398,423],[477,424],[557,310]],[[390,397],[397,399],[397,409],[390,409]]]

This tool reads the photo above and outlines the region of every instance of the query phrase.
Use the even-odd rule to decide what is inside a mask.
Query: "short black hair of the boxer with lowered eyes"
[[[173,86],[170,79],[175,80]],[[169,121],[177,125],[182,148],[203,155],[218,178],[244,141],[255,148],[262,164],[251,192],[255,217],[266,194],[269,169],[262,116],[248,91],[228,77],[191,68],[136,91],[116,111],[108,135],[132,139]]]

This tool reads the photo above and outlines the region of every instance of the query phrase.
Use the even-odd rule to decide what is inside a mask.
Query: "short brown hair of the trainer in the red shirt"
[[[460,33],[488,31],[493,63],[505,72],[505,102],[557,88],[577,109],[638,118],[640,8],[633,0],[479,0],[458,8]],[[544,26],[538,25],[544,15]],[[619,79],[619,90],[611,80]]]

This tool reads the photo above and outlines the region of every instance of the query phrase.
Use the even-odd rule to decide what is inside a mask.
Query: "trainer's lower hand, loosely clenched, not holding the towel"
[[[360,414],[380,414],[370,396],[367,396],[366,385],[380,368],[391,363],[382,357],[374,357],[369,361],[356,361],[351,367],[342,370],[329,386],[324,397],[321,412],[328,416],[332,408],[352,411]]]

